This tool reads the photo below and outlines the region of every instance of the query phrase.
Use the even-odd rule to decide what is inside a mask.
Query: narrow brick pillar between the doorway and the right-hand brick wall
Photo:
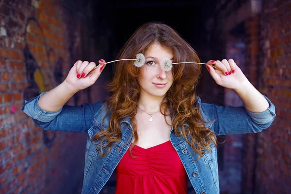
[[[259,40],[260,24],[259,16],[248,18],[244,21],[245,27],[245,44],[246,59],[245,75],[249,81],[258,88],[259,75]],[[262,92],[262,91],[260,91]],[[242,187],[243,193],[252,193],[257,168],[257,147],[258,134],[244,134],[242,149]]]

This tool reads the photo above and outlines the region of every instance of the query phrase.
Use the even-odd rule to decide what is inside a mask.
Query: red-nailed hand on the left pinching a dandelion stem
[[[92,86],[96,82],[101,71],[106,66],[102,65],[106,63],[104,60],[100,59],[98,62],[98,66],[94,62],[89,63],[88,61],[80,60],[74,64],[64,81],[72,89],[72,92],[76,93]]]

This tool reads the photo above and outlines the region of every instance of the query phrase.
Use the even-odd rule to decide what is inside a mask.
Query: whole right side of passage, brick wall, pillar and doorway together
[[[226,172],[223,168],[223,172],[220,171],[220,175],[225,175],[220,176],[221,191],[227,194],[288,193],[291,189],[291,1],[221,0],[215,7],[206,29],[210,40],[225,40],[226,49],[216,50],[216,53],[215,47],[211,47],[211,52],[222,58],[237,57],[238,54],[231,56],[236,49],[231,43],[238,41],[238,38],[233,39],[233,33],[244,34],[244,61],[237,64],[250,82],[271,99],[277,114],[274,123],[261,133],[245,134],[242,139],[233,135],[225,137],[223,149],[219,148],[220,158],[223,156],[220,166],[236,166],[240,163],[238,158],[242,157],[242,189],[237,191],[236,178],[232,178],[238,166],[236,170],[228,168]],[[241,25],[243,32],[238,28]],[[239,102],[231,90],[226,89],[224,96],[225,105],[235,106]],[[241,150],[233,148],[241,142]],[[241,152],[242,156],[239,154],[231,160],[236,152]]]

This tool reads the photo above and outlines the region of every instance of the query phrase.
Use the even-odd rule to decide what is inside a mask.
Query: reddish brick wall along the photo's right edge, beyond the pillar
[[[259,89],[276,105],[277,117],[258,134],[256,193],[291,190],[291,1],[266,0],[259,18]]]

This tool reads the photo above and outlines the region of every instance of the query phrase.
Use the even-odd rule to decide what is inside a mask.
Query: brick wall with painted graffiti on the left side
[[[76,60],[106,57],[91,41],[91,7],[88,1],[0,0],[2,194],[81,193],[87,134],[44,131],[21,107],[60,84]],[[102,79],[67,104],[103,99]]]

